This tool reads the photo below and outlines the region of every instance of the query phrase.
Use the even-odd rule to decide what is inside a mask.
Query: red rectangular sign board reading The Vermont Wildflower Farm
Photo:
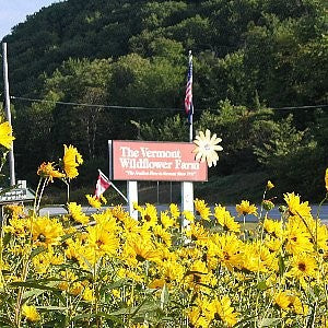
[[[194,143],[109,141],[114,180],[207,181],[208,166],[195,161]]]

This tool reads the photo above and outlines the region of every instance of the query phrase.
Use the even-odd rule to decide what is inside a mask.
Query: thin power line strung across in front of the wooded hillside
[[[67,106],[84,106],[84,107],[101,107],[101,108],[112,108],[112,109],[138,109],[138,110],[174,110],[174,112],[184,112],[181,108],[161,108],[161,107],[137,107],[137,106],[119,106],[119,105],[101,105],[101,104],[85,104],[85,103],[73,103],[73,102],[56,102],[47,99],[37,99],[37,98],[27,98],[27,97],[17,97],[11,96],[12,99],[23,101],[23,102],[34,102],[34,103],[50,103],[58,105]],[[291,110],[291,109],[315,109],[315,108],[326,108],[328,104],[323,105],[305,105],[305,106],[286,106],[286,107],[268,107],[272,110]],[[204,110],[216,110],[216,109],[196,109],[196,112]]]

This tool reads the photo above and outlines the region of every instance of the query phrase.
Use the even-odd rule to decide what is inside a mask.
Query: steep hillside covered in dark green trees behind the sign
[[[106,168],[108,139],[187,141],[191,50],[195,129],[223,139],[210,176],[262,171],[282,190],[318,200],[328,166],[327,27],[325,0],[67,0],[44,8],[3,39],[17,173],[35,178],[40,162],[72,143],[87,185],[94,168]]]

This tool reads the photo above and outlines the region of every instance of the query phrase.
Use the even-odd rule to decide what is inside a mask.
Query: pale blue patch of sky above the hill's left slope
[[[39,11],[43,7],[60,0],[0,0],[0,40],[11,33],[11,28]],[[83,1],[83,0],[82,0]]]

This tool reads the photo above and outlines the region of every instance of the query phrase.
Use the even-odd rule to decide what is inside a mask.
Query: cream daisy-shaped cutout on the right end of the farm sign
[[[216,138],[216,133],[211,137],[209,129],[207,129],[204,133],[199,131],[199,134],[196,136],[196,140],[194,140],[196,148],[192,150],[192,153],[196,153],[196,161],[202,163],[207,161],[209,167],[212,167],[212,165],[216,166],[219,160],[216,152],[223,150],[223,148],[218,144],[221,141],[221,138]]]

